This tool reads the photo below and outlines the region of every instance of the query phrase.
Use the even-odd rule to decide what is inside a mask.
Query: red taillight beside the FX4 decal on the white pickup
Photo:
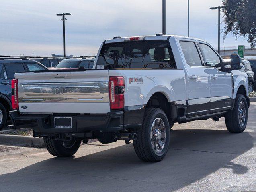
[[[125,79],[121,76],[109,77],[109,101],[111,109],[123,109],[125,106]]]

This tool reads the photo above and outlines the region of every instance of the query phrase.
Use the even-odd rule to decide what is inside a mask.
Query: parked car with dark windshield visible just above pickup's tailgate
[[[92,69],[95,58],[66,58],[59,62],[55,68],[49,68],[50,70],[57,69]]]

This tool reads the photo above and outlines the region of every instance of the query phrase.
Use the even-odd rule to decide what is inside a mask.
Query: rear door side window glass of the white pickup
[[[186,63],[190,66],[202,66],[199,52],[194,42],[180,41]]]

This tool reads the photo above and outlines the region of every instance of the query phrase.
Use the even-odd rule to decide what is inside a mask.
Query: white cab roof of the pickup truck
[[[156,35],[147,35],[147,36],[115,37],[113,39],[106,40],[105,43],[124,42],[125,38],[131,38],[131,37],[144,37],[145,40],[167,40],[168,38],[185,38],[185,39],[199,40],[199,41],[205,42],[205,40],[201,40],[193,37],[187,37],[187,36],[156,34]]]

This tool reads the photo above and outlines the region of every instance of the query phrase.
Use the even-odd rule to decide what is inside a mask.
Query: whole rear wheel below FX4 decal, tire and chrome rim
[[[142,127],[137,130],[133,147],[137,156],[145,162],[158,162],[167,153],[170,127],[166,114],[160,108],[145,110]]]

